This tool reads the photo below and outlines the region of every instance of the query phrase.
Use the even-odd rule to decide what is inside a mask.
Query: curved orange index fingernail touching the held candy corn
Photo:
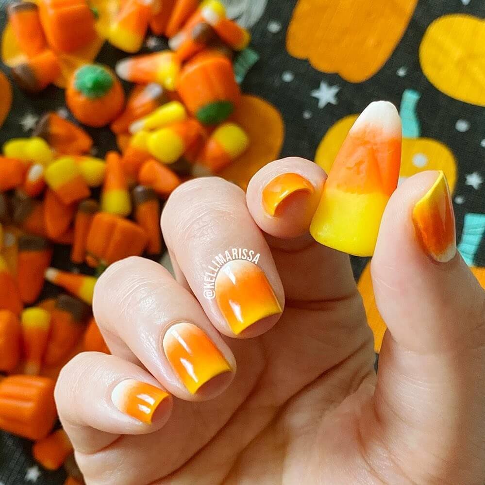
[[[290,195],[296,192],[313,194],[314,191],[313,185],[298,173],[283,173],[268,182],[263,189],[263,208],[269,216],[278,216],[282,202]]]

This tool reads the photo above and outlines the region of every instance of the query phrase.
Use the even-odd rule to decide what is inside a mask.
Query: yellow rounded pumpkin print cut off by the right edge
[[[421,40],[419,61],[442,93],[485,106],[485,20],[464,14],[437,18]]]

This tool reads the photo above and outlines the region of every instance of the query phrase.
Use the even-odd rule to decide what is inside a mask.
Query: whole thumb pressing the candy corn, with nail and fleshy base
[[[442,172],[420,173],[393,194],[371,274],[388,332],[368,452],[384,447],[412,482],[483,483],[485,293],[456,251]]]

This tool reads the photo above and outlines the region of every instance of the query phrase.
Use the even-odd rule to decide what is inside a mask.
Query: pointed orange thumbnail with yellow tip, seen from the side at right
[[[450,189],[443,172],[414,206],[413,222],[418,240],[432,258],[450,261],[456,253],[455,217]]]

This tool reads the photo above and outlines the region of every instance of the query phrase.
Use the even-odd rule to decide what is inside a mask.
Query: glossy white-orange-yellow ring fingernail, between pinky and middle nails
[[[191,394],[232,368],[212,340],[188,322],[172,325],[163,338],[168,362]]]

